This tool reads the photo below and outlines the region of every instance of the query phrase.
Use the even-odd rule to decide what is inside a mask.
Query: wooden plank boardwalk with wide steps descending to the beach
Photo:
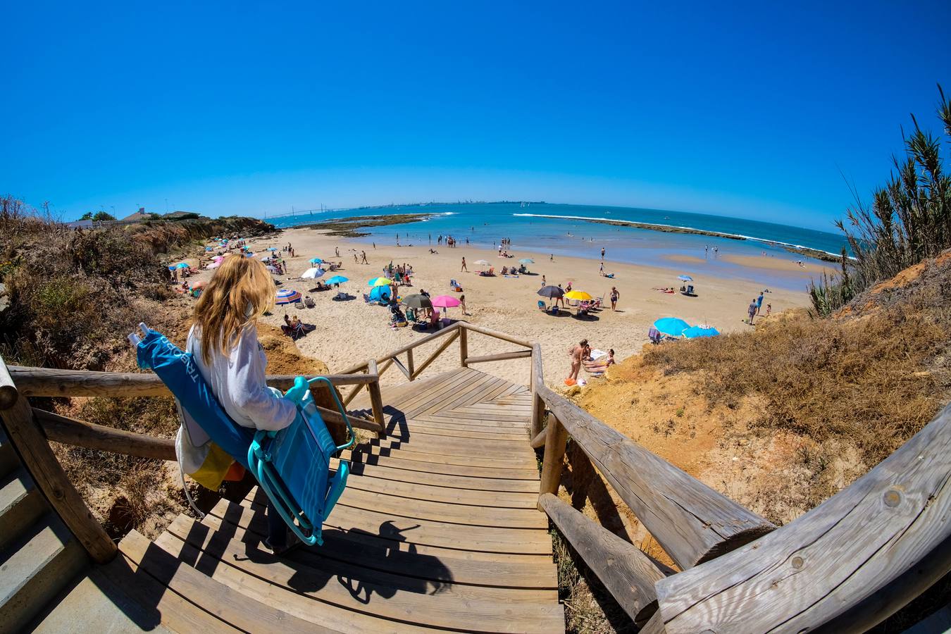
[[[255,489],[202,522],[180,515],[154,542],[133,531],[39,629],[102,622],[108,604],[129,629],[564,631],[532,394],[461,368],[383,389],[383,403],[388,435],[344,456],[353,471],[322,547],[263,549]]]

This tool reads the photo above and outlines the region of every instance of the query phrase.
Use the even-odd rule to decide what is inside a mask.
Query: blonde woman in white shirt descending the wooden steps
[[[257,321],[274,305],[277,288],[261,261],[225,258],[195,304],[186,349],[224,411],[242,427],[282,430],[294,422],[294,402],[264,382],[267,357]],[[267,507],[268,538],[275,554],[287,550],[287,527]]]

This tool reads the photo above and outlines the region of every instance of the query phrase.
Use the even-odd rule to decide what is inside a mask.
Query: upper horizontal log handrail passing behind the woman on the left
[[[167,396],[158,375],[10,366],[16,389],[24,396]],[[268,375],[267,384],[285,390],[297,375]],[[334,385],[373,383],[378,375],[327,375]]]

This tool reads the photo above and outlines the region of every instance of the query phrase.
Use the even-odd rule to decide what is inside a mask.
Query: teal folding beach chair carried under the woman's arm
[[[309,386],[317,381],[327,384],[346,423],[349,440],[343,445],[334,442],[314,403]],[[325,377],[307,380],[298,376],[286,395],[297,401],[297,418],[279,432],[256,432],[247,462],[264,494],[301,542],[322,545],[320,528],[340,499],[350,472],[344,460],[339,461],[337,471],[330,471],[330,459],[353,447],[357,437],[337,391]]]

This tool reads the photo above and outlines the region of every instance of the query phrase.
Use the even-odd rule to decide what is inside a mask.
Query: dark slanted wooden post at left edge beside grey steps
[[[0,388],[11,387],[15,392],[16,387],[10,381],[3,358],[0,358],[0,368]],[[0,392],[10,395],[9,389]],[[3,419],[10,443],[20,454],[24,467],[47,496],[52,508],[95,562],[105,564],[110,561],[115,557],[116,545],[89,512],[79,491],[69,482],[66,471],[63,471],[49,448],[47,437],[33,416],[27,398],[16,393],[12,404],[0,409],[0,418]]]

